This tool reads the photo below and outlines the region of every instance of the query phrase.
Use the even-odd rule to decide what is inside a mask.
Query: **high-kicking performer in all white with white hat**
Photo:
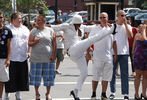
[[[65,50],[68,51],[70,59],[77,64],[80,70],[80,77],[78,79],[76,87],[70,92],[70,94],[74,97],[75,100],[79,100],[78,91],[81,90],[82,85],[88,74],[84,52],[90,45],[101,40],[103,37],[112,34],[114,30],[114,26],[112,26],[111,29],[103,29],[100,34],[96,34],[87,39],[81,40],[83,33],[90,32],[91,28],[93,27],[81,25],[82,23],[82,17],[80,15],[75,15],[72,19],[71,24],[66,23],[51,26],[55,31],[64,32],[63,37]]]

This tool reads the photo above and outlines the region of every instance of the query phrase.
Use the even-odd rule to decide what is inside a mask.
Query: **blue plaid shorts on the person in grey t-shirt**
[[[55,63],[34,63],[31,62],[30,85],[40,86],[43,77],[44,86],[54,86]]]

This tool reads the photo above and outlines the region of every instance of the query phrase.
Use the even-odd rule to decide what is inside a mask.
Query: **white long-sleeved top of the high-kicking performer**
[[[78,41],[80,41],[84,35],[84,32],[90,31],[90,27],[86,27],[85,25],[81,25],[80,30],[82,32],[82,36],[79,37],[78,31],[75,30],[75,27],[73,24],[65,23],[65,24],[60,24],[60,25],[52,25],[51,27],[54,29],[54,31],[63,31],[64,32],[63,37],[64,37],[65,50],[69,49],[70,46],[73,46]]]

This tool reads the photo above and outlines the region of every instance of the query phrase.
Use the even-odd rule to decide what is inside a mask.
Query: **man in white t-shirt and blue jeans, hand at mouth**
[[[132,27],[127,24],[126,13],[123,10],[119,10],[117,13],[116,22],[116,43],[117,43],[117,57],[114,62],[112,80],[110,82],[110,99],[115,98],[116,92],[116,69],[119,63],[120,65],[120,77],[121,77],[121,92],[124,96],[124,100],[129,99],[129,75],[128,75],[128,56],[129,56],[129,44],[128,38],[133,37]]]

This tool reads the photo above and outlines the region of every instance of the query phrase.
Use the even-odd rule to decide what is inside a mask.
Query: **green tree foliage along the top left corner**
[[[12,11],[12,0],[0,0],[0,10]],[[28,13],[31,10],[46,10],[48,6],[45,0],[16,0],[17,12]]]

